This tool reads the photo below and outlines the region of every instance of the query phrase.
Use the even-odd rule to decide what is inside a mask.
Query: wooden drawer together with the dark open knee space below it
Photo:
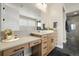
[[[30,42],[29,47],[32,48],[32,56],[40,56],[41,55],[41,39]]]

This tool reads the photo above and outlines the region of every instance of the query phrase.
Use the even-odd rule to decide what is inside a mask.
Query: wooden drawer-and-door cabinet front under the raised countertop
[[[55,47],[57,42],[57,33],[50,33],[42,36],[41,55],[48,55]]]

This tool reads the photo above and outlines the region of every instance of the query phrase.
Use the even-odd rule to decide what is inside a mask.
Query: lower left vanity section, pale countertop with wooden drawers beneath
[[[1,56],[24,56],[24,49],[31,48],[41,43],[41,39],[33,36],[20,37],[13,42],[0,43]]]

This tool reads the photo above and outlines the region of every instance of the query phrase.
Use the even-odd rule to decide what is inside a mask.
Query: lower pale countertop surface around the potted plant
[[[20,37],[19,40],[12,41],[12,42],[0,42],[0,51],[6,50],[21,44],[29,43],[35,40],[39,40],[41,38],[33,37],[33,36],[26,36],[26,37]]]

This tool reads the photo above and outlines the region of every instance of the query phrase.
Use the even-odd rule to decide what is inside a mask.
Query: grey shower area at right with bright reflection
[[[66,39],[63,50],[72,55],[79,55],[79,14],[67,16]]]

